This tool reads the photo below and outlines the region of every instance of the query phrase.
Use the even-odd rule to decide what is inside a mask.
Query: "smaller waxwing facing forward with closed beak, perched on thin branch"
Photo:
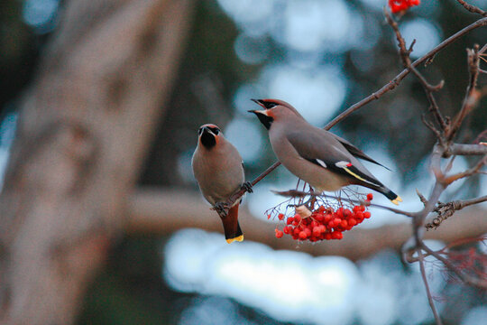
[[[206,124],[199,127],[198,145],[193,153],[191,166],[199,190],[219,212],[226,242],[230,244],[243,241],[243,232],[238,222],[241,200],[234,202],[231,207],[227,207],[225,202],[236,190],[243,188],[252,192],[252,185],[245,181],[240,153],[225,139],[218,126]],[[228,209],[226,215],[225,209]]]

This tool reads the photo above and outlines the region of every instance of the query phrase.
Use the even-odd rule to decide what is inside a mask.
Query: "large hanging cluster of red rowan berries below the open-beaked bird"
[[[373,199],[372,193],[367,194],[365,205]],[[317,242],[319,240],[342,239],[343,232],[354,228],[363,222],[363,219],[371,218],[371,213],[366,211],[364,204],[351,206],[347,209],[342,206],[338,209],[319,205],[311,211],[308,217],[301,217],[299,213],[286,218],[286,226],[280,230],[276,228],[276,237],[289,235],[294,240]],[[277,216],[280,221],[285,219],[284,214]],[[271,218],[271,215],[269,215]]]

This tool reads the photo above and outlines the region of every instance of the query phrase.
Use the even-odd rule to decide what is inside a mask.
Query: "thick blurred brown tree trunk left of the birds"
[[[0,322],[73,323],[124,231],[191,0],[71,0],[23,101],[0,197]]]

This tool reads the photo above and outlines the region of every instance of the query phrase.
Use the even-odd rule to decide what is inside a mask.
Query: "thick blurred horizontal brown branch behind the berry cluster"
[[[256,218],[244,208],[240,209],[239,220],[245,240],[264,243],[274,249],[295,250],[299,245],[299,251],[316,256],[343,255],[358,260],[386,247],[400,250],[412,234],[409,223],[372,229],[359,226],[349,231],[342,240],[327,241],[322,245],[298,244],[288,237],[277,239],[273,231],[277,222],[264,221],[263,216]],[[124,230],[133,236],[170,235],[182,228],[223,232],[221,219],[195,191],[140,188],[133,192],[125,211]],[[448,219],[441,231],[429,231],[425,237],[450,243],[459,238],[478,237],[485,233],[487,218],[484,218],[484,209],[471,207],[457,214],[458,218]],[[222,240],[225,240],[224,237]]]

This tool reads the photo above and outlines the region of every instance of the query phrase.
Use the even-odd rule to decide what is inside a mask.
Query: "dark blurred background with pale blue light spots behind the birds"
[[[469,3],[487,7],[485,0]],[[3,171],[23,93],[35,86],[41,55],[62,22],[64,5],[59,0],[3,0],[0,4]],[[255,108],[250,98],[286,100],[313,125],[324,126],[381,88],[402,70],[395,37],[384,23],[384,5],[385,0],[194,2],[166,114],[158,122],[138,186],[193,193],[195,204],[205,204],[190,167],[199,125],[221,126],[242,154],[250,181],[275,161],[267,132],[246,113]],[[424,0],[400,17],[400,31],[407,42],[417,40],[411,55],[417,59],[475,19],[455,0]],[[464,98],[465,48],[486,41],[486,29],[476,29],[442,51],[424,70],[430,82],[446,81],[437,96],[445,115],[455,115]],[[485,81],[481,76],[480,87],[485,87]],[[461,142],[472,143],[485,129],[486,104],[484,98],[467,118]],[[423,89],[409,76],[399,88],[332,130],[391,168],[393,172],[367,165],[400,193],[401,208],[406,210],[420,209],[415,189],[427,194],[433,184],[427,159],[435,138],[420,118],[427,107]],[[472,162],[458,157],[453,170],[462,171]],[[77,323],[433,324],[418,266],[401,261],[401,243],[391,247],[376,243],[382,236],[396,236],[388,233],[391,229],[407,229],[407,218],[372,209],[372,218],[361,229],[345,234],[354,237],[362,230],[371,231],[366,234],[375,236],[373,247],[363,254],[354,254],[351,246],[339,255],[340,242],[333,243],[338,248],[328,254],[316,246],[330,246],[329,242],[314,246],[275,243],[280,241],[272,237],[276,221],[267,221],[264,211],[282,198],[270,190],[288,190],[296,181],[280,167],[246,196],[243,205],[248,212],[243,212],[241,225],[253,240],[227,245],[221,233],[190,223],[188,228],[133,231],[119,238],[79,306]],[[442,200],[485,195],[486,189],[487,177],[477,176],[456,182]],[[375,198],[376,203],[389,204],[379,195]],[[486,208],[483,205],[474,213],[485,216]],[[216,214],[207,214],[219,222]],[[256,223],[250,218],[260,218],[262,228],[253,229]],[[268,236],[259,240],[252,235],[254,231]],[[445,242],[429,244],[440,248]],[[482,244],[471,246],[487,252]],[[487,323],[485,292],[455,281],[441,265],[427,266],[446,324]]]

